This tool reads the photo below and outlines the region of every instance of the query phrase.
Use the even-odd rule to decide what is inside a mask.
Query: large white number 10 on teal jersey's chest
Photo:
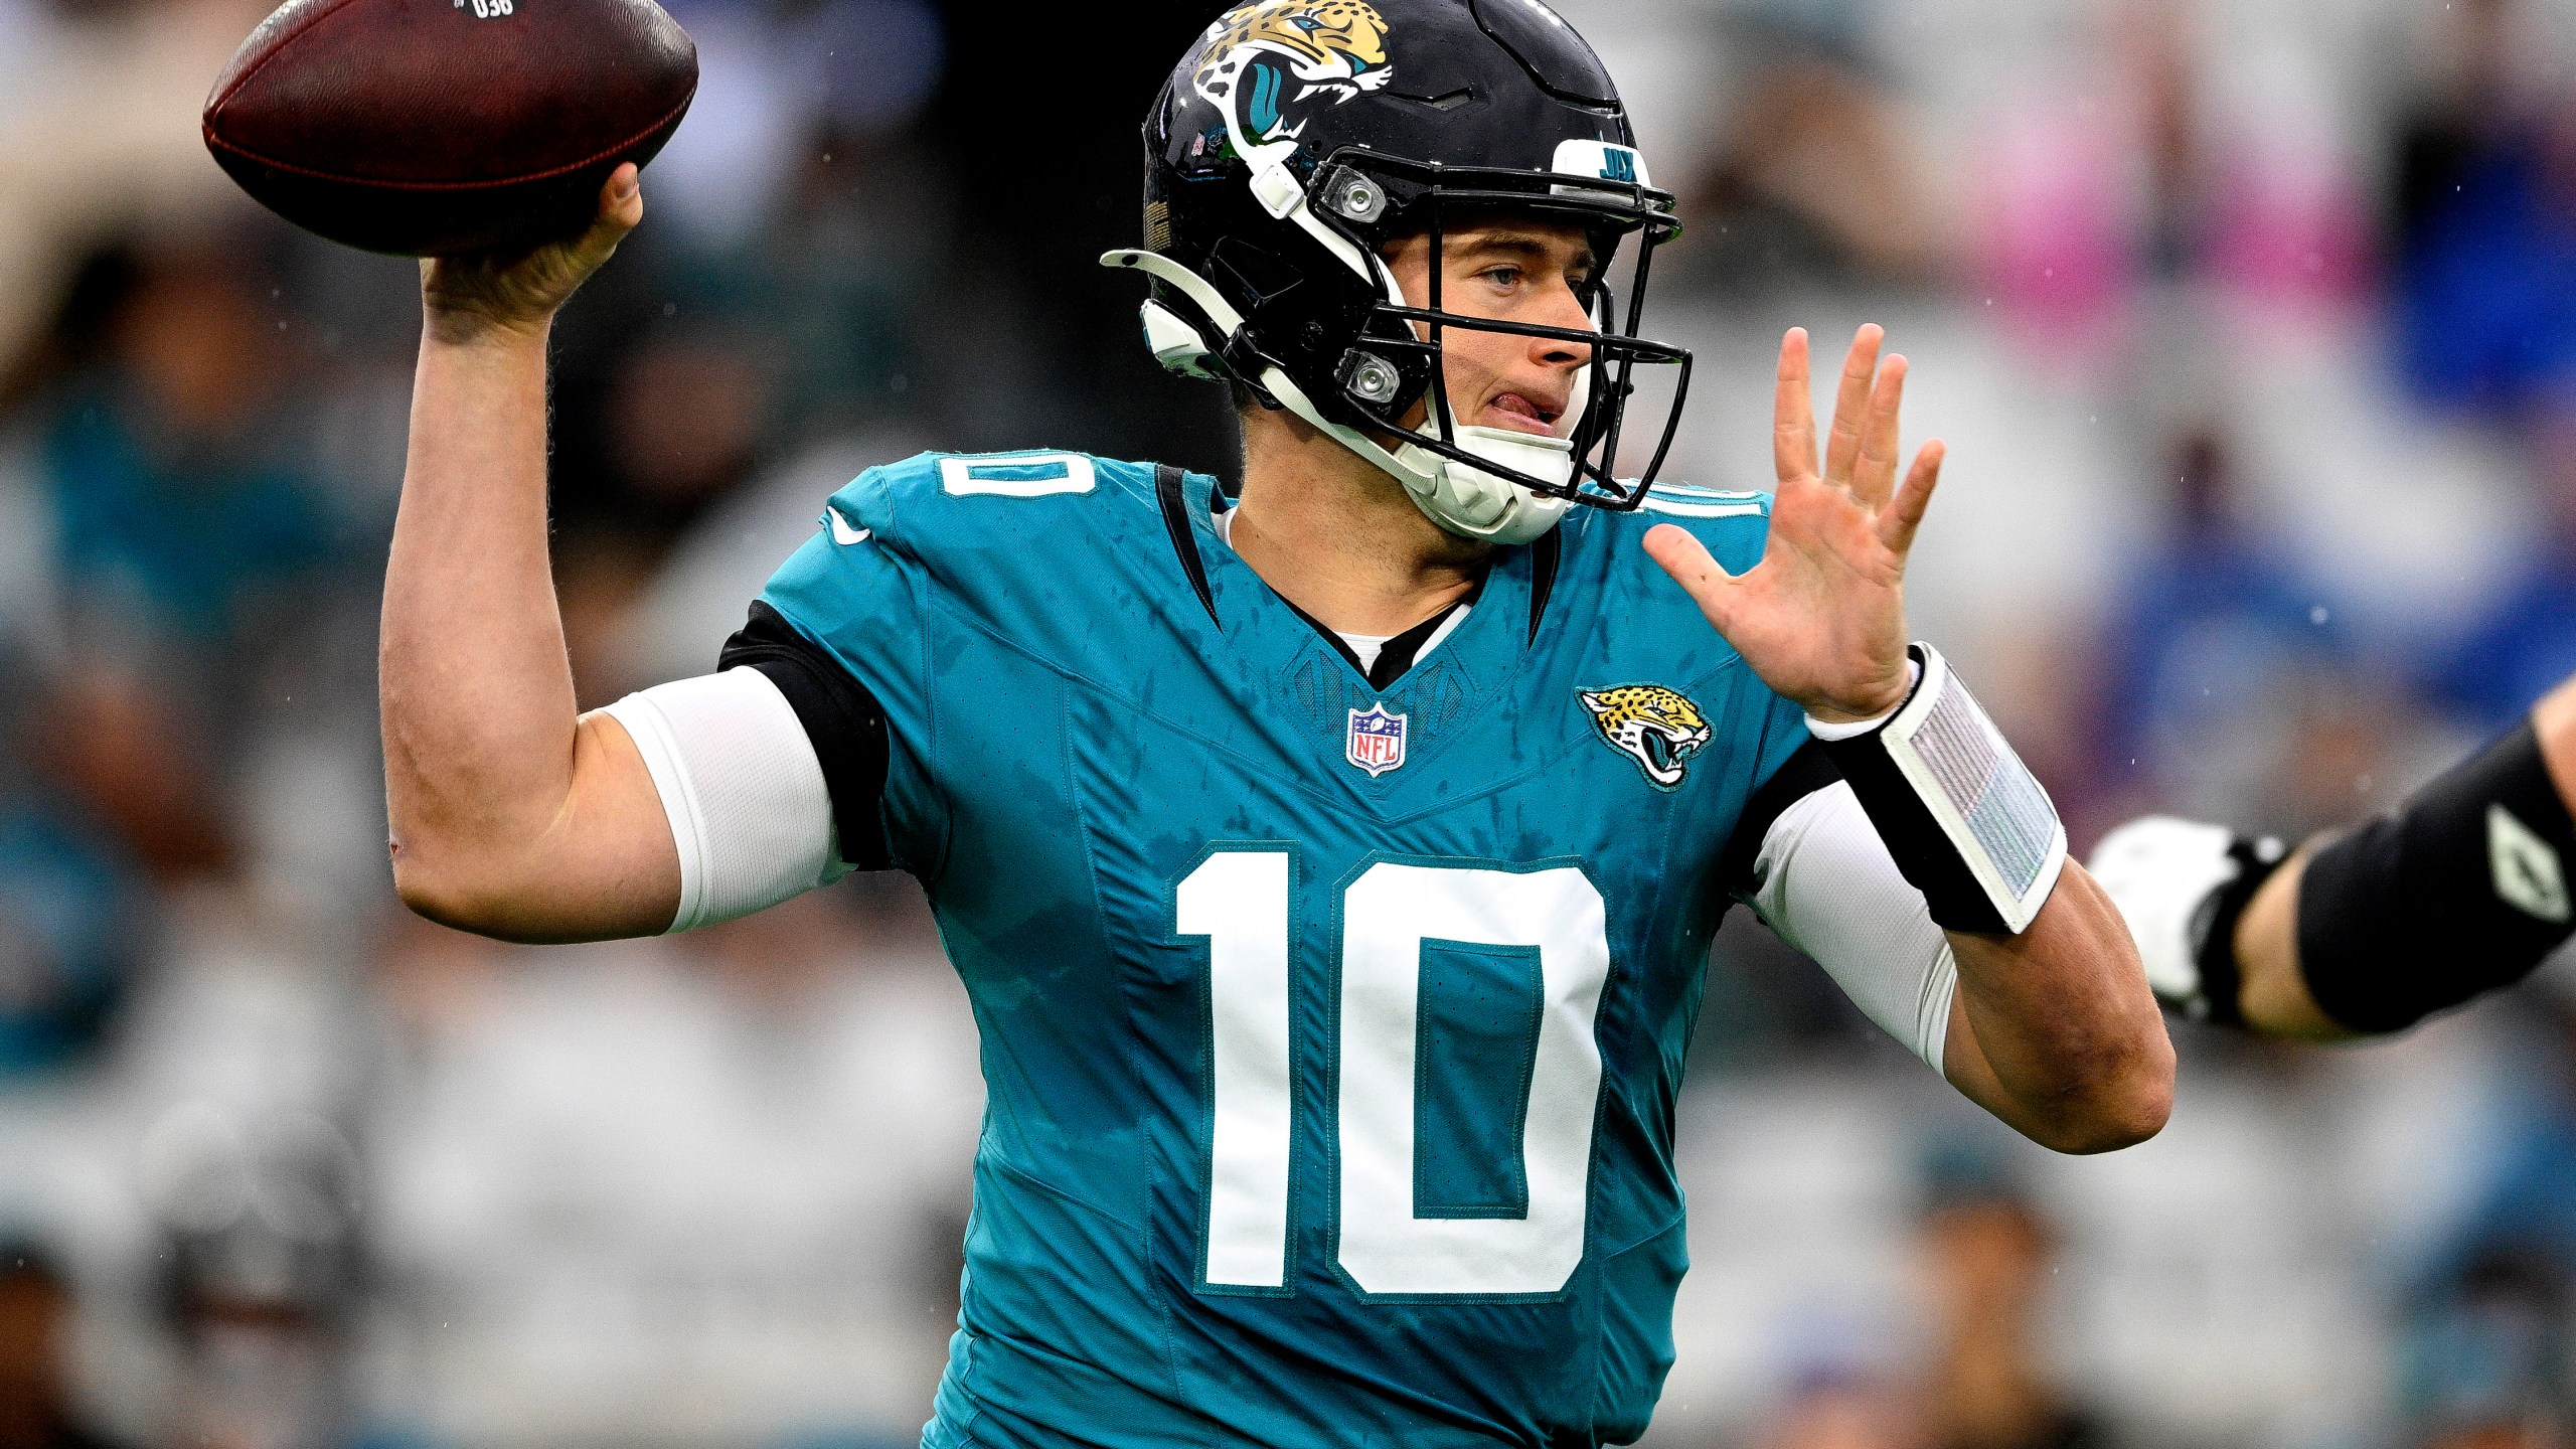
[[[1180,882],[1177,933],[1208,938],[1213,1142],[1208,1287],[1288,1281],[1288,853],[1231,848]],[[1538,954],[1538,1042],[1520,1122],[1528,1212],[1419,1217],[1414,1204],[1422,946]],[[1543,1294],[1584,1256],[1584,1196],[1602,1057],[1592,1036],[1610,938],[1574,866],[1504,871],[1381,861],[1342,892],[1342,1269],[1373,1294]],[[1316,1062],[1311,1070],[1321,1070]],[[1484,1083],[1453,1083],[1479,1091]]]

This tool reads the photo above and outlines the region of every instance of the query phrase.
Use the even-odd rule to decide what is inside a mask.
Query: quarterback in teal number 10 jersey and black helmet
[[[394,877],[523,941],[920,877],[987,1078],[927,1446],[1641,1436],[1739,900],[2032,1140],[2164,1124],[2120,915],[1906,642],[1942,454],[1901,469],[1904,358],[1860,333],[1819,449],[1790,333],[1777,490],[1656,482],[1672,196],[1538,0],[1242,5],[1154,101],[1144,245],[1103,260],[1234,389],[1239,490],[871,469],[716,673],[577,717],[546,333],[639,219],[621,170],[574,242],[425,263]]]

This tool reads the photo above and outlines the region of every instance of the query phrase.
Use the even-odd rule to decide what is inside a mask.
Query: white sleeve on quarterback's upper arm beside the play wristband
[[[1762,835],[1754,882],[1762,923],[1937,1073],[1958,962],[1852,786],[1834,781],[1783,810]]]

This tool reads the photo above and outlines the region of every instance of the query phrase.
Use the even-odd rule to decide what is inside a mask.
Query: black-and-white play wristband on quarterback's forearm
[[[1932,645],[1883,722],[1816,730],[1826,755],[1947,931],[2020,933],[2066,869],[2056,804]],[[1842,737],[1834,737],[1842,735]]]

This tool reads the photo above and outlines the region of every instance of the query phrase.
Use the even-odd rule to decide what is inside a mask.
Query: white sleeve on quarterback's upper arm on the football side
[[[605,714],[644,753],[680,846],[672,931],[750,915],[850,874],[814,740],[770,676],[732,668],[657,683]]]

